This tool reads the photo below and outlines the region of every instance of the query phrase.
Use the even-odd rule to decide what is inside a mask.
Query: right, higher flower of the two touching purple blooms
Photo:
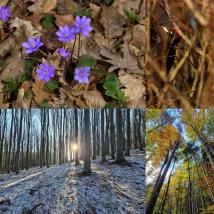
[[[76,29],[76,33],[81,33],[83,36],[89,36],[89,33],[93,30],[90,26],[91,19],[83,16],[80,18],[76,17],[74,22],[74,27]]]

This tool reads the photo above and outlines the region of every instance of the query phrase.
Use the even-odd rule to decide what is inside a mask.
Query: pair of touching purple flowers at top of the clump
[[[56,32],[59,41],[70,42],[77,33],[83,36],[89,36],[89,33],[93,30],[90,26],[91,19],[83,16],[82,18],[77,16],[74,22],[74,26],[65,25],[59,28]]]

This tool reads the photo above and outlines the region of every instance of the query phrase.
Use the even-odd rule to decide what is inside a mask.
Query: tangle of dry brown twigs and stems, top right
[[[214,106],[214,1],[147,0],[147,107]]]

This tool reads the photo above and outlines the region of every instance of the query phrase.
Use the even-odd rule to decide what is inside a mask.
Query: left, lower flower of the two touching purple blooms
[[[75,37],[75,29],[65,25],[60,27],[59,31],[56,32],[59,41],[61,42],[70,42]]]

